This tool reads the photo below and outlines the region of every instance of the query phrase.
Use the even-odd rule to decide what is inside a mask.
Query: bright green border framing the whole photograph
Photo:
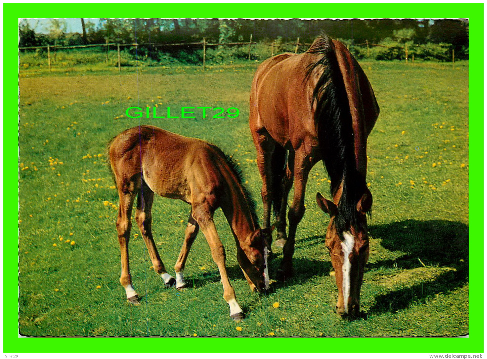
[[[18,337],[18,116],[3,120],[3,352],[117,353],[160,352],[185,348],[189,352],[484,352],[484,4],[483,3],[352,3],[352,4],[141,4],[79,3],[55,7],[43,3],[3,4],[3,100],[17,107],[19,18],[465,18],[469,19],[469,337],[468,338],[19,338]],[[90,8],[90,10],[86,10]],[[475,126],[475,127],[474,127]],[[471,195],[473,194],[473,195]],[[8,206],[8,207],[7,207]],[[11,296],[7,296],[11,293]],[[130,340],[130,344],[126,340]],[[191,346],[187,340],[195,340]],[[333,346],[325,345],[334,340]],[[244,341],[244,345],[242,345]],[[265,345],[264,344],[265,341]],[[184,342],[184,343],[183,343]],[[353,342],[353,345],[352,345]],[[125,344],[125,345],[121,345]],[[240,344],[240,345],[239,345]],[[330,344],[330,343],[328,343]],[[124,349],[126,348],[126,349]]]

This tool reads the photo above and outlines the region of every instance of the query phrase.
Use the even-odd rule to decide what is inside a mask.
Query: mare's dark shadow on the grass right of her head
[[[368,264],[367,269],[417,267],[453,267],[455,271],[440,274],[433,281],[412,285],[377,296],[369,314],[396,312],[413,302],[425,302],[436,294],[453,291],[468,281],[468,226],[445,220],[406,220],[371,226],[372,238],[381,245],[405,255],[395,260]]]

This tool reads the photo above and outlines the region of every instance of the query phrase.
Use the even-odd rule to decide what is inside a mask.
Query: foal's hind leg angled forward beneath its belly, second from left
[[[173,286],[176,280],[166,272],[166,268],[159,257],[159,252],[152,238],[152,202],[154,201],[154,192],[143,181],[141,192],[137,198],[137,209],[135,210],[135,221],[139,226],[142,238],[149,251],[150,261],[157,274],[159,274],[166,286]]]

